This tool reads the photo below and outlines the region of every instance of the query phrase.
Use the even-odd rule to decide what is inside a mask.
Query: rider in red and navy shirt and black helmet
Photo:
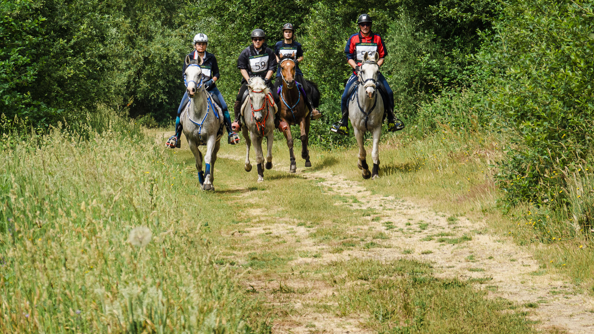
[[[345,54],[349,66],[353,68],[353,73],[346,81],[345,92],[342,94],[340,101],[340,110],[342,111],[342,119],[335,122],[330,127],[331,131],[335,133],[347,135],[349,133],[349,109],[347,108],[347,99],[349,99],[350,87],[358,81],[359,66],[363,61],[365,52],[378,52],[380,59],[377,65],[381,67],[384,64],[384,57],[388,55],[384,40],[380,35],[372,33],[371,31],[371,17],[368,14],[361,14],[357,20],[359,25],[359,32],[352,34],[346,41]],[[381,73],[378,73],[377,82],[383,84],[388,95],[388,105],[386,106],[386,113],[388,119],[388,131],[398,131],[404,128],[401,121],[394,118],[394,93],[388,86],[386,78]]]

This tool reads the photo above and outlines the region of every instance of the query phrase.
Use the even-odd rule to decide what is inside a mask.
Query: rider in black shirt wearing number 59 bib
[[[276,57],[274,57],[274,51],[268,48],[264,39],[266,34],[262,29],[254,29],[251,33],[252,45],[248,46],[239,54],[237,59],[237,68],[241,71],[241,88],[239,88],[239,94],[235,99],[235,106],[233,111],[235,112],[235,121],[233,122],[233,131],[239,131],[241,129],[241,100],[244,96],[245,90],[248,89],[248,81],[251,77],[261,77],[264,79],[264,83],[271,91],[274,103],[278,105],[280,102],[279,95],[274,90],[270,78],[276,71]],[[280,118],[277,114],[274,114],[274,127],[278,127]]]

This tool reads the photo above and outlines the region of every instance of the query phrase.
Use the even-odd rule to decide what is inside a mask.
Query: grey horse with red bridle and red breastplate
[[[272,143],[274,138],[274,114],[277,106],[274,105],[274,99],[270,94],[270,89],[260,77],[252,77],[248,83],[249,97],[245,99],[241,108],[241,114],[244,116],[244,134],[246,153],[245,153],[245,171],[252,170],[249,163],[249,147],[254,143],[256,153],[256,162],[258,163],[258,182],[264,181],[264,153],[262,150],[262,140],[266,137],[268,153],[266,155],[266,169],[272,168]]]

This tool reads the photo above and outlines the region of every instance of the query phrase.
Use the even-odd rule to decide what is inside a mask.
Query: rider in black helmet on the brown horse
[[[295,40],[295,28],[293,27],[293,24],[286,23],[283,26],[282,32],[283,37],[285,38],[279,40],[279,42],[276,42],[276,45],[274,45],[274,55],[276,55],[276,61],[279,62],[276,71],[276,80],[274,81],[274,90],[278,91],[279,86],[283,84],[283,75],[280,71],[280,56],[292,55],[295,53],[295,81],[297,81],[305,91],[305,79],[301,72],[301,68],[299,68],[299,63],[303,61],[303,49],[301,48],[301,43]],[[305,103],[307,104],[307,108],[311,111],[311,119],[318,119],[322,116],[317,109],[313,108],[309,96]]]

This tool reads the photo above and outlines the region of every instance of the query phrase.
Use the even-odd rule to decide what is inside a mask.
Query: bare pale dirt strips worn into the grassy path
[[[161,138],[161,134],[158,136]],[[244,160],[241,155],[219,155],[222,158]],[[289,166],[276,164],[279,171],[288,171]],[[321,257],[307,257],[293,260],[294,263],[309,261],[312,263],[327,263],[333,260],[359,258],[373,258],[377,260],[394,260],[409,258],[421,261],[431,261],[435,268],[435,276],[440,278],[457,277],[462,281],[473,279],[476,288],[488,289],[491,298],[502,297],[525,305],[526,310],[532,312],[533,320],[541,320],[539,327],[543,329],[564,330],[567,333],[586,334],[594,333],[594,300],[584,294],[576,286],[554,277],[539,269],[539,264],[533,259],[527,248],[519,247],[511,239],[491,235],[486,222],[472,222],[466,218],[457,219],[434,212],[430,203],[415,203],[414,200],[396,200],[393,197],[383,197],[371,194],[363,186],[363,182],[349,181],[342,175],[333,175],[328,172],[308,172],[305,168],[298,168],[297,175],[304,179],[317,180],[331,199],[332,195],[340,194],[354,197],[351,203],[334,203],[347,205],[353,209],[376,209],[380,215],[368,217],[368,221],[361,225],[372,226],[377,231],[388,235],[386,242],[391,248],[370,248],[369,250],[344,251],[340,254],[331,254],[324,245],[317,244],[309,239],[304,228],[295,228],[295,225],[279,223],[273,227],[254,226],[254,232],[267,231],[275,234],[286,234],[292,228],[302,241],[298,247],[302,250],[321,253]],[[320,182],[321,181],[321,182]],[[251,215],[267,215],[264,212],[251,212]],[[271,213],[268,213],[271,215]],[[425,228],[413,230],[410,222],[422,222]],[[387,228],[386,222],[392,222],[393,228]],[[416,224],[416,223],[415,223]],[[399,231],[400,229],[400,231]],[[303,231],[301,231],[303,230]],[[407,232],[410,231],[410,232]],[[472,240],[458,243],[438,242],[439,236],[447,238],[461,238],[467,236]],[[412,250],[410,254],[402,254],[403,249]],[[421,254],[421,252],[429,254]],[[484,269],[484,271],[470,271],[469,269]],[[479,270],[480,270],[479,269]],[[246,286],[263,288],[263,282],[249,279]],[[315,282],[288,281],[289,286],[305,286],[307,294],[291,300],[274,303],[292,303],[293,308],[299,309],[308,300],[320,300],[324,295],[334,291]],[[272,302],[272,301],[271,301]],[[309,333],[311,328],[305,323],[314,323],[317,330],[327,333],[365,333],[368,330],[358,325],[358,319],[343,319],[328,313],[301,312],[289,319],[277,322],[274,332]],[[359,323],[360,324],[360,323]]]

